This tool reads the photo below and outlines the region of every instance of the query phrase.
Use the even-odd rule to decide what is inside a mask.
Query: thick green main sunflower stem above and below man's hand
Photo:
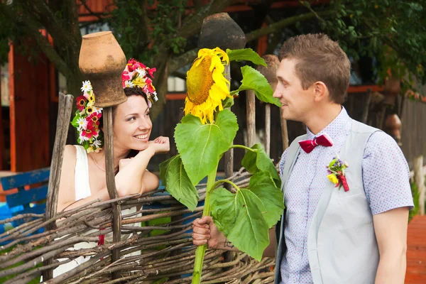
[[[212,211],[212,206],[210,204],[209,198],[210,193],[214,190],[214,180],[216,180],[216,172],[217,166],[209,173],[207,177],[207,191],[206,198],[204,200],[204,209],[202,211],[202,216],[210,216],[210,212]],[[202,263],[204,261],[204,254],[206,253],[207,244],[202,246],[198,246],[195,251],[195,262],[194,262],[194,272],[192,273],[192,284],[200,284],[201,281],[201,273],[202,273]]]

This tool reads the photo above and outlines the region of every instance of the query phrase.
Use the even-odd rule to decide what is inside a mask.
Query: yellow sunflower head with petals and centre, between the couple
[[[187,72],[185,115],[200,117],[202,124],[213,123],[214,111],[222,111],[222,101],[229,94],[229,81],[224,77],[228,55],[220,48],[203,48]]]

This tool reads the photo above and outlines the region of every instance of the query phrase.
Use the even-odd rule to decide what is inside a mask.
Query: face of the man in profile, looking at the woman
[[[284,119],[304,122],[314,107],[315,92],[312,86],[302,89],[300,79],[295,73],[294,59],[283,59],[277,70],[278,84],[273,93],[283,104],[282,116]]]

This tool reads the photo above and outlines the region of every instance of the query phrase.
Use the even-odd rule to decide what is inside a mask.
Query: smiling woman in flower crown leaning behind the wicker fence
[[[170,149],[167,137],[149,141],[152,123],[149,109],[156,100],[150,69],[136,60],[129,60],[123,72],[124,93],[127,101],[113,109],[114,169],[119,197],[142,194],[158,188],[158,178],[148,172],[149,160],[157,153]],[[105,153],[102,150],[102,109],[94,107],[95,96],[89,81],[83,83],[84,94],[77,98],[75,119],[72,125],[79,133],[78,143],[67,145],[62,162],[58,195],[58,212],[79,207],[93,200],[109,200],[107,191]],[[126,209],[123,215],[136,212],[136,207]],[[107,242],[111,239],[107,234]],[[126,237],[126,236],[124,236]],[[103,238],[99,238],[103,242]],[[74,249],[87,249],[95,243],[80,243]],[[79,257],[59,266],[54,276],[70,271],[89,258]]]

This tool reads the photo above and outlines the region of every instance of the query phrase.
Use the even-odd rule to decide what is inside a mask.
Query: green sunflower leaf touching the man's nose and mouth
[[[261,72],[258,72],[258,70],[253,69],[251,66],[241,67],[241,72],[243,73],[243,80],[241,80],[242,84],[237,90],[238,92],[246,89],[253,89],[256,97],[262,102],[268,102],[270,104],[275,104],[277,107],[281,107],[280,101],[273,97],[271,85]]]

